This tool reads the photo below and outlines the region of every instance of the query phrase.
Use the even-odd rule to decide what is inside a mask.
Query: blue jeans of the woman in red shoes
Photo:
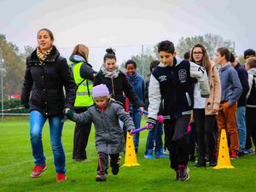
[[[42,131],[47,117],[42,113],[32,110],[30,113],[30,141],[34,163],[37,166],[45,164],[44,149],[42,143]],[[55,171],[57,173],[66,172],[65,154],[61,143],[61,132],[63,123],[61,117],[49,117],[50,145],[54,154]]]

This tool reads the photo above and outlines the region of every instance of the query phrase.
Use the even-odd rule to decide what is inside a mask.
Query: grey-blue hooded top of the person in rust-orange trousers
[[[219,79],[221,82],[221,99],[220,102],[229,102],[232,106],[241,96],[241,83],[236,72],[236,69],[228,63],[218,70]]]

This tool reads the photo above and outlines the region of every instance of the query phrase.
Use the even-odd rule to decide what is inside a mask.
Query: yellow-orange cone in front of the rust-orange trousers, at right
[[[218,148],[218,162],[217,162],[217,166],[214,166],[213,169],[235,168],[230,164],[230,152],[228,148],[228,141],[227,141],[225,130],[221,131],[219,139],[220,139],[220,142],[219,142],[219,148]]]

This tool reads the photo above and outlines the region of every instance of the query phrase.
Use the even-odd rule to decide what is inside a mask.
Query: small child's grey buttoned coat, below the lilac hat
[[[80,124],[93,122],[96,130],[96,150],[106,154],[117,154],[125,149],[123,129],[119,119],[124,122],[127,131],[135,129],[129,113],[125,113],[121,102],[110,99],[104,112],[95,105],[84,113],[74,113],[73,121]]]

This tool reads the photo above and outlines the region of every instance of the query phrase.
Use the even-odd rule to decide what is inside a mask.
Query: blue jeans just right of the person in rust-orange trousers
[[[245,109],[246,107],[242,106],[242,107],[238,107],[236,110],[236,124],[237,124],[240,150],[245,148],[245,144],[247,140]]]

